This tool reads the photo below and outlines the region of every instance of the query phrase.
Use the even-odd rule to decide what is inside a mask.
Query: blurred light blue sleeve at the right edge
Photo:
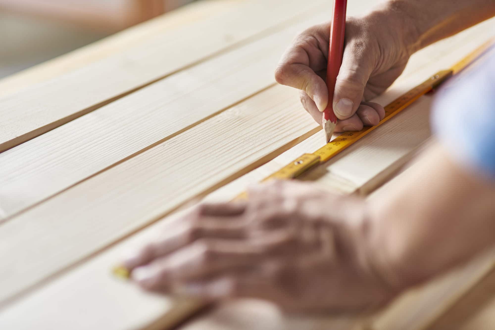
[[[436,95],[433,130],[453,159],[495,180],[495,56]]]

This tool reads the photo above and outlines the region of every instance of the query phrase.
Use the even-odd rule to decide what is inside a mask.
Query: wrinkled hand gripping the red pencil
[[[412,51],[400,29],[379,11],[346,22],[346,44],[337,77],[333,109],[336,132],[360,131],[378,125],[383,106],[369,102],[382,94],[402,73]],[[387,22],[388,24],[385,24]],[[277,82],[297,88],[304,109],[321,125],[328,103],[325,85],[330,22],[313,26],[296,37],[275,71]]]

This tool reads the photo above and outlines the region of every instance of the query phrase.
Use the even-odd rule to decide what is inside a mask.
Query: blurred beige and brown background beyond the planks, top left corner
[[[0,78],[194,0],[0,0]]]

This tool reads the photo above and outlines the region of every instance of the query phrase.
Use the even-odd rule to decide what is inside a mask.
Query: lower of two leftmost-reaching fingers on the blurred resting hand
[[[254,267],[266,258],[287,259],[295,252],[315,249],[315,241],[297,240],[294,232],[275,232],[248,240],[202,238],[148,265],[136,268],[132,278],[148,289],[170,283],[204,279],[215,274]]]

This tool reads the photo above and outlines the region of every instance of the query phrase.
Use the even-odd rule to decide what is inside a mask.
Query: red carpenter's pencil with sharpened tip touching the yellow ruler
[[[327,88],[328,105],[323,111],[323,129],[326,142],[329,142],[337,125],[337,117],[333,109],[335,83],[342,65],[344,54],[344,37],[346,35],[347,0],[334,0],[332,26],[330,28],[330,44],[328,46]]]

